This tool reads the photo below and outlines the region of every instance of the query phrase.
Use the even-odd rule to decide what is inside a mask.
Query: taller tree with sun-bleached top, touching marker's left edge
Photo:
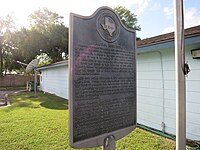
[[[31,30],[45,37],[41,53],[46,53],[53,62],[63,60],[63,54],[68,54],[68,28],[63,24],[63,17],[43,8],[31,14],[29,19]]]

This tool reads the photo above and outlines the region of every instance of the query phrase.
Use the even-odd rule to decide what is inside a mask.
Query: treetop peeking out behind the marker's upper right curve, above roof
[[[140,25],[137,25],[137,18],[136,15],[131,13],[130,10],[128,10],[125,7],[118,6],[114,8],[114,11],[119,15],[122,23],[129,29],[140,31]]]

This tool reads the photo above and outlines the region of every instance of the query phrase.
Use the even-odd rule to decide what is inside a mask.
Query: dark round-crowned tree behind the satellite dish
[[[31,60],[40,55],[41,49],[45,49],[48,44],[46,37],[36,30],[30,30],[22,28],[19,31],[12,32],[10,39],[10,49],[7,55],[9,56],[7,60],[8,63],[6,67],[8,71],[16,71],[19,73],[24,72],[21,65],[17,61],[28,64]],[[4,54],[4,56],[6,56]]]

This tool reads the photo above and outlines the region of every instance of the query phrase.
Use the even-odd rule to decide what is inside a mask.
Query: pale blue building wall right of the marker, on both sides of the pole
[[[165,43],[166,44],[166,43]],[[200,59],[192,59],[191,49],[186,46],[186,61],[191,72],[186,78],[186,132],[187,138],[200,140]],[[141,48],[142,49],[142,48]],[[138,123],[175,134],[176,92],[175,58],[173,47],[157,49],[137,55]]]

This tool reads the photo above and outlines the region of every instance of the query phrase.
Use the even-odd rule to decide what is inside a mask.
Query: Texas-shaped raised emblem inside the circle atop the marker
[[[109,17],[105,17],[104,19],[105,23],[104,24],[102,23],[101,26],[103,27],[104,30],[108,31],[110,36],[113,36],[113,32],[116,29],[115,22]]]

